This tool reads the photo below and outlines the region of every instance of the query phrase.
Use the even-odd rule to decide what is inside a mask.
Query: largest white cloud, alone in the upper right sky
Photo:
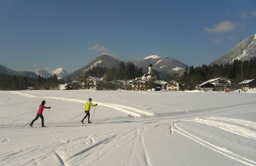
[[[212,28],[205,27],[204,31],[211,33],[232,32],[234,31],[235,27],[236,25],[231,21],[224,21],[218,24],[214,24]]]

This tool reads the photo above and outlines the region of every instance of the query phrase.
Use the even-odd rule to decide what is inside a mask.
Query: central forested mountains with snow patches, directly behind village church
[[[120,62],[120,60],[117,60],[112,56],[101,55],[94,59],[92,62],[90,62],[88,65],[76,70],[67,77],[69,77],[71,80],[78,80],[79,76],[83,76],[85,72],[87,72],[89,69],[92,69],[93,67],[119,67]],[[179,62],[176,59],[173,59],[171,57],[161,58],[156,55],[148,56],[142,60],[125,60],[123,62],[126,64],[128,62],[132,62],[134,63],[135,67],[141,67],[143,71],[147,71],[148,64],[151,63],[153,65],[153,69],[162,73],[169,73],[171,76],[175,73],[183,72],[186,67],[189,69],[188,65]]]

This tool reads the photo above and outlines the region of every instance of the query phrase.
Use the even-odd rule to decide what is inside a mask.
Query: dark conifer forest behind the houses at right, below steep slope
[[[207,66],[203,64],[199,67],[190,67],[190,70],[186,69],[181,77],[176,77],[177,81],[182,84],[186,84],[185,87],[194,87],[197,84],[201,84],[204,81],[213,78],[227,77],[233,80],[232,88],[239,88],[241,79],[249,80],[256,78],[256,57],[251,58],[249,61],[242,62],[242,75],[241,75],[241,60],[234,60],[231,64],[221,64]]]

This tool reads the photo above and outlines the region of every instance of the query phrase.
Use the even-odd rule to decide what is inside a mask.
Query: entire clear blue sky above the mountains
[[[201,66],[256,33],[255,0],[0,0],[0,64],[69,73],[102,54]]]

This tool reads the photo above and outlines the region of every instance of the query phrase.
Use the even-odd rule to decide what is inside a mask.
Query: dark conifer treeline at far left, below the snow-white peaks
[[[38,79],[21,75],[0,74],[0,90],[24,90],[26,87],[33,87],[39,90],[55,90],[59,84],[64,84],[64,80],[58,80],[57,76]]]

